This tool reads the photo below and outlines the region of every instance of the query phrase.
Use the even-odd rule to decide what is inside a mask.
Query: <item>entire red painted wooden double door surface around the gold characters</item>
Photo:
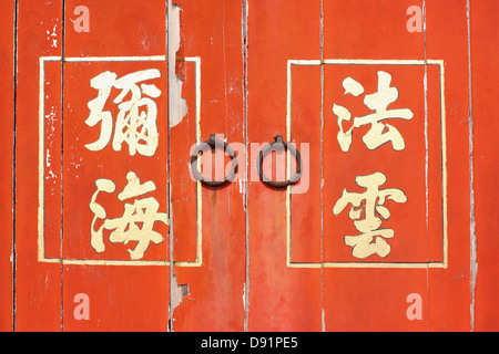
[[[176,51],[166,31],[174,27],[170,1],[20,0],[17,17],[10,1],[0,55],[0,329],[495,331],[492,2],[470,1],[468,28],[466,0],[180,0]],[[82,4],[89,32],[74,30],[74,9]],[[407,30],[413,6],[424,10],[424,32]],[[104,128],[85,123],[99,93],[91,80],[143,70],[160,73],[143,82],[160,91],[152,100],[153,156],[133,154],[126,143],[119,150],[112,138],[89,149]],[[177,124],[174,74],[187,106]],[[368,97],[383,90],[383,75],[397,88],[388,110],[411,113],[383,121],[405,147],[368,148],[369,125],[361,125],[342,149],[334,105],[352,113],[340,122],[348,129],[355,117],[375,111]],[[363,92],[346,93],[346,77]],[[144,97],[147,86],[141,90]],[[124,110],[120,93],[110,88],[102,107],[114,134]],[[190,170],[193,147],[212,134],[238,160],[236,180],[217,188],[194,181]],[[257,176],[258,152],[276,135],[294,143],[304,162],[301,181],[289,189]],[[284,155],[272,156],[277,162],[267,157],[264,166],[282,179]],[[228,163],[220,152],[212,162],[211,154],[200,158],[204,175],[213,160],[215,167]],[[154,190],[135,197],[154,197],[165,218],[154,223],[162,240],[138,260],[130,253],[136,240],[114,242],[110,228],[102,250],[91,242],[92,220],[96,230],[133,202],[118,198],[131,171],[141,184],[154,183]],[[354,223],[349,205],[335,205],[345,190],[365,191],[356,178],[375,173],[386,177],[381,190],[395,188],[405,198],[376,209],[385,217],[371,230],[394,232],[385,239],[389,252],[358,258],[345,236],[366,233],[366,227]],[[115,191],[99,194],[94,201],[106,215],[94,219],[98,179],[112,180]],[[365,210],[359,216],[366,218]],[[475,240],[478,268],[470,263]],[[89,319],[75,315],[78,294],[88,295]],[[410,317],[411,299],[420,299],[418,319]]]

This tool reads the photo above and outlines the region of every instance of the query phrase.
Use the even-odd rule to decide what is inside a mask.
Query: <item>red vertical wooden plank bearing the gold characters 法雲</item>
[[[324,1],[324,311],[326,331],[426,331],[428,329],[428,262],[430,239],[441,231],[428,227],[427,201],[435,197],[426,173],[426,152],[432,158],[440,150],[440,140],[430,140],[425,105],[425,43],[422,32],[409,32],[406,14],[410,6],[421,9],[421,1]],[[422,19],[420,19],[422,20]],[[338,59],[343,61],[338,61]],[[390,87],[398,92],[388,110],[410,110],[410,121],[395,118],[389,123],[405,140],[397,150],[393,142],[368,148],[363,139],[369,124],[353,127],[355,117],[374,113],[367,95],[379,90],[379,73],[390,75]],[[432,73],[435,74],[435,73]],[[438,82],[438,72],[437,82]],[[352,77],[361,92],[347,90],[345,80]],[[429,77],[429,74],[428,74]],[[359,86],[359,87],[360,87]],[[349,86],[348,86],[349,87]],[[340,123],[346,131],[353,127],[352,145],[339,145],[339,111],[352,114],[350,122]],[[436,124],[439,123],[437,108]],[[434,124],[431,122],[431,124]],[[428,135],[427,135],[428,134]],[[437,154],[431,147],[436,145]],[[437,165],[438,167],[438,165]],[[345,191],[364,192],[358,176],[383,174],[386,181],[379,189],[395,188],[404,198],[389,198],[384,207],[389,217],[380,229],[393,230],[394,237],[385,241],[387,253],[355,254],[346,243],[346,236],[364,233],[356,219],[368,218],[368,201],[343,210],[338,202]],[[366,177],[367,178],[367,177]],[[438,189],[437,189],[438,200]],[[397,202],[394,199],[398,199]],[[380,199],[376,202],[383,204]],[[359,222],[359,221],[356,221]],[[438,229],[438,228],[436,228]],[[436,233],[435,233],[436,232]],[[377,237],[373,243],[383,239]],[[379,250],[376,250],[379,251]],[[379,251],[381,252],[381,251]],[[441,252],[440,252],[441,253]],[[440,254],[441,257],[441,254]],[[421,300],[419,320],[410,320],[407,309],[410,294]]]

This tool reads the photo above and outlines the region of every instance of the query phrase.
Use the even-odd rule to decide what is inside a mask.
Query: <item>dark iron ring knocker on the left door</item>
[[[197,156],[201,152],[208,146],[211,149],[216,149],[217,147],[223,147],[225,154],[231,157],[232,169],[228,173],[228,176],[225,176],[223,180],[210,180],[203,177],[197,170]],[[230,181],[233,181],[237,174],[237,156],[234,149],[226,142],[220,140],[216,138],[215,134],[210,135],[210,139],[201,143],[191,155],[191,170],[195,180],[200,180],[202,184],[210,187],[221,187]]]

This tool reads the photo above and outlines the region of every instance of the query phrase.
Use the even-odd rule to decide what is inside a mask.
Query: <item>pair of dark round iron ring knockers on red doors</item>
[[[200,171],[197,169],[197,164],[196,164],[197,157],[201,152],[206,150],[206,147],[208,147],[210,149],[213,149],[213,150],[215,150],[217,148],[223,148],[225,154],[228,157],[231,157],[232,168],[228,171],[228,174],[224,177],[224,179],[211,180],[211,179],[203,177],[200,174]],[[271,178],[265,176],[265,174],[263,171],[263,160],[272,152],[282,152],[282,150],[288,150],[293,155],[293,157],[296,160],[296,171],[287,180],[284,180],[284,181],[272,180]],[[238,166],[237,156],[236,156],[234,149],[226,142],[217,139],[214,134],[210,135],[208,140],[201,143],[191,155],[191,169],[192,169],[194,179],[198,180],[202,184],[210,186],[210,187],[221,187],[227,183],[232,183],[237,174],[237,166]],[[288,144],[287,142],[284,142],[282,135],[276,135],[275,142],[265,145],[265,147],[259,152],[258,157],[256,159],[256,170],[258,173],[259,179],[264,184],[266,184],[273,188],[286,188],[291,185],[298,183],[299,178],[302,177],[302,156],[299,155],[299,152],[296,149],[296,147],[293,144]]]

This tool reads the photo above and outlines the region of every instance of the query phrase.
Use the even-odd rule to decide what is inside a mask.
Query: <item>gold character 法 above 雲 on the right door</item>
[[[370,124],[369,131],[363,136],[363,142],[368,149],[373,150],[391,142],[395,150],[403,150],[406,147],[401,134],[393,125],[383,123],[385,119],[406,119],[413,118],[414,114],[409,108],[388,110],[388,105],[398,98],[398,90],[390,87],[391,75],[384,71],[378,71],[378,91],[364,97],[364,104],[375,113],[355,117],[353,126],[345,131],[343,122],[352,119],[350,112],[344,106],[334,104],[333,113],[338,117],[337,124],[339,132],[337,135],[340,149],[346,153],[349,150],[353,139],[354,128]],[[364,93],[364,87],[353,77],[346,77],[343,81],[345,94],[352,94],[357,97]],[[386,131],[386,132],[385,132]]]

